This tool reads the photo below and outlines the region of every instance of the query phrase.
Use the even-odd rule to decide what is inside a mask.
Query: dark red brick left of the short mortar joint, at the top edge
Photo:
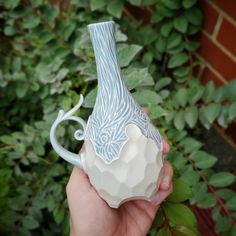
[[[204,14],[204,23],[203,28],[209,33],[212,34],[215,28],[215,24],[219,13],[217,10],[209,4],[206,0],[200,0],[200,6]]]

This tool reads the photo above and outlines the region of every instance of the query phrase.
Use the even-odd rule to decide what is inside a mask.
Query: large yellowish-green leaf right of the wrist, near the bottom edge
[[[164,211],[167,218],[175,225],[196,226],[196,219],[192,211],[184,204],[165,203]]]

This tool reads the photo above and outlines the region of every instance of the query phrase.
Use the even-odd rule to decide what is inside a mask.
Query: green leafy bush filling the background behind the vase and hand
[[[134,6],[151,23],[136,20]],[[86,94],[77,115],[86,119],[96,98],[96,68],[86,25],[115,19],[118,54],[127,87],[151,112],[171,145],[174,192],[162,204],[150,235],[198,235],[185,202],[213,208],[216,231],[235,235],[235,181],[215,172],[197,132],[236,117],[236,81],[202,86],[194,37],[203,15],[197,0],[9,0],[0,2],[0,232],[68,235],[65,185],[71,166],[52,151],[49,129],[59,108]],[[121,17],[122,16],[122,17]],[[59,129],[64,146],[74,124]]]

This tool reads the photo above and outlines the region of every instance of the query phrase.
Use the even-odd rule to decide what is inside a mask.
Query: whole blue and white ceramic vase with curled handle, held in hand
[[[82,168],[98,194],[111,206],[131,199],[150,200],[162,177],[162,139],[148,116],[133,99],[119,68],[114,22],[88,26],[95,53],[98,94],[86,124],[73,116],[83,103],[68,112],[60,111],[50,131],[55,151],[66,161]],[[56,128],[65,120],[79,122],[75,132],[84,140],[79,154],[64,149],[57,141]]]

